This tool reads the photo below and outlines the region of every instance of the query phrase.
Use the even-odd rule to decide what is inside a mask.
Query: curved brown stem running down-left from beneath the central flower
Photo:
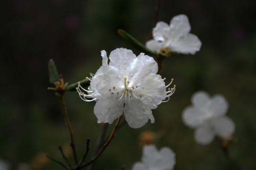
[[[87,163],[83,164],[80,168],[85,167],[85,166],[91,164],[93,161],[95,161],[97,158],[99,158],[99,156],[101,156],[101,153],[106,149],[106,147],[110,144],[110,142],[112,141],[112,139],[115,137],[116,131],[117,131],[117,129],[118,129],[120,120],[122,119],[123,115],[124,115],[124,114],[122,114],[122,115],[118,118],[118,121],[117,121],[115,127],[113,128],[113,130],[112,130],[112,132],[111,132],[111,135],[110,135],[108,141],[103,145],[103,147],[101,148],[100,152],[99,152],[96,156],[94,156],[93,158],[91,158],[90,161],[88,161]]]

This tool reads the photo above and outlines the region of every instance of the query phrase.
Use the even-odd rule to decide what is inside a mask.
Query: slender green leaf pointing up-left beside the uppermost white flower
[[[124,30],[119,29],[118,34],[121,37],[123,37],[126,41],[128,41],[132,46],[134,46],[138,51],[145,52],[147,54],[157,56],[157,53],[155,53],[155,52],[149,50],[148,48],[146,48],[145,45],[143,45],[141,42],[136,40],[133,36],[131,36],[130,34],[125,32]]]

